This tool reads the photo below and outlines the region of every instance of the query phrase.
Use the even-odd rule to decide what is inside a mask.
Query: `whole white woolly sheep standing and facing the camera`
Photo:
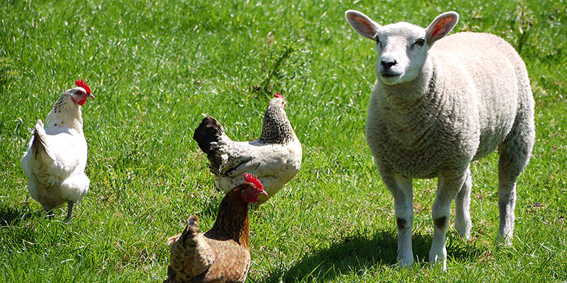
[[[438,178],[432,207],[430,262],[447,268],[445,247],[451,201],[454,227],[471,236],[471,161],[498,147],[498,238],[511,245],[516,181],[534,146],[534,98],[514,48],[496,35],[456,33],[455,12],[427,28],[378,25],[359,11],[347,21],[376,41],[376,85],[366,118],[366,142],[378,174],[393,195],[398,266],[410,267],[412,178]]]

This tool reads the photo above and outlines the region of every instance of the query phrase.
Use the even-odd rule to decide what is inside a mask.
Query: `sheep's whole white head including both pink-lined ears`
[[[376,76],[387,85],[413,81],[420,76],[427,50],[459,21],[455,12],[442,13],[427,28],[410,23],[381,26],[359,11],[345,13],[352,28],[376,41]]]

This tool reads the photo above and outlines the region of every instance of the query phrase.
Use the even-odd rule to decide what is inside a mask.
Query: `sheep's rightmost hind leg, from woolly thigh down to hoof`
[[[506,245],[512,244],[514,233],[514,209],[516,206],[516,181],[529,161],[534,146],[534,123],[529,119],[515,127],[506,141],[498,146],[498,210],[500,226],[498,238]]]

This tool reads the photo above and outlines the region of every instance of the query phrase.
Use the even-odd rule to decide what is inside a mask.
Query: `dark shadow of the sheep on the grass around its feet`
[[[473,245],[454,245],[458,236],[447,238],[449,258],[457,260],[478,258],[481,251]],[[427,260],[432,236],[414,235],[412,246],[414,256],[420,261]],[[459,240],[456,240],[459,241]],[[395,268],[398,255],[396,233],[380,232],[371,238],[351,236],[333,243],[330,248],[316,250],[306,255],[288,270],[274,270],[264,282],[326,282],[338,275],[356,272],[364,267],[385,265]]]

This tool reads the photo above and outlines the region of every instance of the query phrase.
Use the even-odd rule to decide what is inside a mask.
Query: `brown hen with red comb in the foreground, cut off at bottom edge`
[[[256,176],[245,173],[244,178],[220,202],[213,228],[201,233],[198,217],[191,215],[183,233],[168,239],[172,249],[164,283],[245,282],[250,266],[248,208],[266,192]]]

